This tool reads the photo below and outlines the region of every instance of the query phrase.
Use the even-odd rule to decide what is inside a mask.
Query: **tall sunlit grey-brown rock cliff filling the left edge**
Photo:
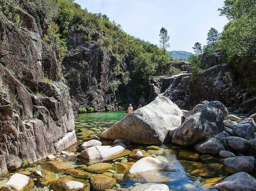
[[[5,174],[22,160],[31,163],[66,149],[76,136],[57,40],[43,40],[47,13],[26,1],[1,6],[0,174]]]

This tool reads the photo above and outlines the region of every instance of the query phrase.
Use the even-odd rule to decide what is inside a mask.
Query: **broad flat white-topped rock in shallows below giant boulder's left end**
[[[125,144],[119,143],[112,146],[92,146],[83,150],[79,156],[86,159],[109,158],[113,155],[123,152],[126,149]]]

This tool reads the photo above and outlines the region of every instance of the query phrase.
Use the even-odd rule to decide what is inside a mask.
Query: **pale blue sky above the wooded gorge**
[[[91,13],[106,14],[122,29],[152,44],[159,45],[159,33],[166,28],[171,50],[194,53],[196,42],[206,44],[211,27],[223,31],[228,22],[219,16],[224,0],[75,0]]]

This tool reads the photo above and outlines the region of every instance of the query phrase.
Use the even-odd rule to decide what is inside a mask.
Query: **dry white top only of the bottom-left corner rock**
[[[29,177],[24,174],[13,174],[7,183],[3,186],[4,188],[12,188],[13,190],[22,190],[28,185]],[[2,189],[1,189],[2,190]]]

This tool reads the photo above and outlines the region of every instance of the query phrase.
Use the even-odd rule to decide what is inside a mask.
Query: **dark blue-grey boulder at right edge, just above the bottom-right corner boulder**
[[[254,172],[254,157],[251,156],[237,156],[229,157],[223,160],[224,167],[229,173],[237,172]]]

